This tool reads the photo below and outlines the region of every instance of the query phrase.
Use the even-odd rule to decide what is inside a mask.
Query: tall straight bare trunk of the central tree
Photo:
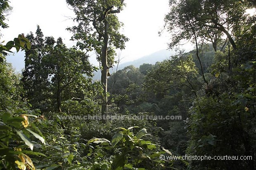
[[[102,115],[106,114],[108,111],[107,108],[107,73],[108,73],[108,65],[107,65],[107,47],[109,41],[108,29],[109,23],[107,19],[104,19],[104,35],[103,35],[103,47],[102,47],[102,54],[101,54],[101,62],[102,62],[102,74],[101,74],[101,83],[104,90],[103,98],[102,98]]]

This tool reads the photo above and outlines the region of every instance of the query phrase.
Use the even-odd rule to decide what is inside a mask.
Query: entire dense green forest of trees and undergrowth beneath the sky
[[[0,0],[0,31],[12,3]],[[0,41],[0,170],[256,170],[256,1],[169,0],[176,54],[109,74],[125,3],[66,0],[74,47],[39,25]]]

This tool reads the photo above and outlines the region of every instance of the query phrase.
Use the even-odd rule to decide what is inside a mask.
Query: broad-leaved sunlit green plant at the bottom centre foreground
[[[157,149],[156,144],[152,144],[150,141],[142,140],[143,136],[147,135],[147,130],[145,128],[141,129],[137,133],[135,127],[123,128],[119,127],[113,131],[118,131],[113,137],[111,145],[105,143],[99,143],[96,146],[92,141],[97,139],[92,139],[88,143],[90,147],[90,156],[94,155],[94,159],[104,158],[104,156],[110,154],[110,164],[103,164],[102,166],[96,164],[92,166],[92,169],[97,168],[109,168],[113,170],[123,170],[123,169],[153,169],[159,166],[164,167],[162,161],[159,161],[159,156],[164,154],[164,151],[155,152]],[[135,135],[136,134],[136,135]],[[93,146],[93,147],[92,147]],[[92,149],[93,148],[93,149]],[[111,150],[114,149],[112,153]],[[154,162],[154,164],[152,164]],[[144,167],[144,168],[141,168]],[[161,168],[160,168],[161,169]]]

